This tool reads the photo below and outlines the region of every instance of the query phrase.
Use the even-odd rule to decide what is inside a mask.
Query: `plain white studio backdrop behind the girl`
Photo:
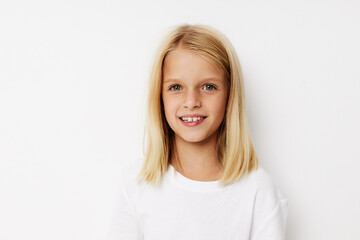
[[[360,239],[358,1],[0,1],[0,239],[102,239],[169,27],[234,45],[287,239]]]

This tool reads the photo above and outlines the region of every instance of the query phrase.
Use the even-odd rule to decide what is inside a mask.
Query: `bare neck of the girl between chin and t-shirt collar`
[[[174,136],[176,157],[173,167],[183,176],[198,181],[215,181],[220,178],[221,166],[216,153],[216,134],[198,143]]]

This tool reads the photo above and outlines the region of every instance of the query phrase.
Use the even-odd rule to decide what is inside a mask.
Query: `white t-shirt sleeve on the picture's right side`
[[[288,201],[272,182],[258,189],[251,228],[251,240],[285,239]]]

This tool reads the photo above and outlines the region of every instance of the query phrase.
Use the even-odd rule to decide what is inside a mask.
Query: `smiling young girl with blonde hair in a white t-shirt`
[[[123,168],[108,239],[284,239],[287,199],[258,166],[234,48],[176,26],[148,92],[145,157]]]

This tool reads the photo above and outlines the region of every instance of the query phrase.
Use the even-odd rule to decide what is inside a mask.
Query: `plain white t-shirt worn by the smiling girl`
[[[136,183],[142,159],[125,166],[111,240],[280,240],[287,198],[262,168],[228,186],[195,181],[172,165],[160,186]]]

